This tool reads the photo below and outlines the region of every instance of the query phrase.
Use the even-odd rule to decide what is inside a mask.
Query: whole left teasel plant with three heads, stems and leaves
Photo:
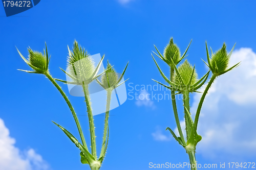
[[[18,49],[17,49],[18,51]],[[31,50],[31,48],[28,48],[29,52],[29,58],[26,59],[19,51],[20,57],[33,69],[30,70],[21,70],[29,73],[34,74],[42,74],[45,75],[52,83],[53,85],[58,89],[58,91],[61,93],[63,99],[65,99],[66,103],[69,106],[69,109],[71,110],[71,113],[74,117],[80,138],[81,143],[65,128],[58,125],[57,123],[53,122],[56,126],[58,126],[68,137],[69,139],[76,145],[76,147],[81,151],[80,157],[81,157],[81,163],[82,164],[89,164],[90,168],[92,170],[98,170],[101,167],[102,161],[106,154],[106,149],[108,147],[108,141],[109,141],[109,110],[110,110],[110,103],[111,103],[111,93],[112,91],[123,84],[124,82],[120,83],[120,81],[123,78],[124,72],[126,70],[126,67],[124,71],[122,72],[122,75],[118,77],[118,74],[113,69],[113,67],[109,64],[107,68],[101,73],[98,74],[100,66],[102,64],[102,61],[104,59],[104,55],[99,61],[99,63],[95,66],[93,58],[90,56],[90,54],[85,51],[84,48],[78,45],[78,42],[75,40],[72,51],[70,50],[68,46],[69,56],[68,56],[68,71],[65,71],[61,69],[65,74],[70,78],[71,81],[65,81],[61,79],[53,78],[50,75],[49,72],[49,61],[50,57],[48,55],[47,45],[46,50],[44,50],[44,54],[40,52],[36,52]],[[113,76],[109,75],[109,72],[113,73]],[[98,80],[101,78],[101,82]],[[70,103],[68,96],[63,92],[61,87],[58,85],[56,81],[65,83],[65,84],[73,84],[73,85],[79,85],[82,86],[83,93],[84,93],[84,99],[87,106],[87,113],[89,118],[89,127],[90,127],[90,137],[91,137],[91,153],[88,149],[86,139],[84,138],[82,128],[80,126],[77,114]],[[107,101],[106,101],[106,111],[105,111],[105,120],[104,120],[104,131],[103,131],[103,142],[101,147],[100,156],[97,157],[96,152],[96,135],[95,135],[95,126],[94,126],[94,119],[93,119],[93,113],[92,113],[92,107],[91,107],[91,101],[90,101],[90,94],[89,94],[89,84],[93,81],[97,81],[102,87],[104,86],[105,90],[107,91]],[[120,83],[120,84],[119,84]],[[109,88],[106,88],[107,86]],[[107,136],[108,134],[108,136]]]

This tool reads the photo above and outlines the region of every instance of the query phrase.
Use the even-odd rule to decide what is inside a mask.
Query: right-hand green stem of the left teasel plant
[[[100,157],[103,156],[104,150],[105,150],[105,143],[106,143],[106,131],[109,126],[109,112],[110,112],[110,101],[111,101],[111,94],[112,89],[107,89],[106,94],[106,113],[105,113],[105,125],[104,125],[104,133],[103,133],[103,142],[102,142],[102,148],[100,152]]]

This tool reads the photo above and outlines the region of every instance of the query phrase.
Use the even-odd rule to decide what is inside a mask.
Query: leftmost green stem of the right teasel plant
[[[174,68],[170,67],[170,81],[173,82],[173,77],[174,77]],[[174,110],[174,117],[175,117],[175,121],[176,121],[176,125],[181,137],[181,140],[183,143],[185,142],[182,130],[181,130],[181,126],[180,126],[180,120],[179,120],[179,116],[178,116],[178,111],[177,111],[177,106],[176,106],[176,100],[175,100],[175,90],[171,90],[170,91],[170,96],[172,98],[172,104],[173,104],[173,110]]]

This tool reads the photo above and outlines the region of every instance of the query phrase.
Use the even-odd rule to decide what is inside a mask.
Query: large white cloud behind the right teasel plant
[[[233,52],[230,66],[240,61],[239,67],[217,78],[203,103],[198,124],[203,139],[197,151],[207,157],[220,152],[256,155],[256,54],[251,48],[240,48]],[[200,93],[194,95],[193,115],[200,98]]]

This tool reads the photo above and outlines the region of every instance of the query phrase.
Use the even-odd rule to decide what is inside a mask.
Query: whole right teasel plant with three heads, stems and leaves
[[[209,70],[206,72],[206,74],[202,78],[198,79],[195,66],[193,67],[191,64],[189,64],[187,60],[185,60],[182,64],[179,64],[180,61],[186,57],[185,55],[190,46],[190,43],[182,56],[180,55],[179,47],[176,44],[174,44],[173,38],[170,38],[169,43],[164,48],[163,55],[159,52],[159,50],[155,46],[157,53],[155,52],[153,53],[156,56],[158,56],[161,60],[163,60],[165,63],[167,63],[167,65],[170,68],[169,79],[163,74],[161,68],[157,64],[153,55],[152,57],[156,63],[156,66],[161,76],[168,83],[168,85],[165,85],[154,80],[155,82],[159,83],[160,85],[170,90],[174,117],[175,117],[179,136],[177,137],[174,131],[169,127],[167,127],[166,130],[169,130],[169,132],[178,141],[178,143],[182,145],[182,147],[185,149],[186,153],[189,156],[191,169],[196,170],[197,169],[197,161],[195,156],[196,146],[197,146],[197,143],[202,139],[202,137],[197,133],[197,126],[198,126],[199,115],[200,115],[200,111],[201,111],[205,96],[210,86],[216,80],[217,77],[232,70],[234,67],[237,67],[240,63],[237,63],[236,65],[230,68],[227,68],[234,46],[231,52],[227,53],[226,44],[224,43],[222,48],[217,52],[213,53],[211,50],[211,57],[209,57],[208,47],[206,43],[206,55],[207,55],[208,63],[205,62],[205,64],[209,67]],[[201,96],[201,99],[197,108],[196,116],[195,116],[195,119],[193,120],[190,113],[189,95],[190,93],[199,92],[197,90],[200,87],[202,87],[205,84],[205,82],[208,80],[208,76],[210,75],[210,72],[211,72],[211,78],[207,83],[206,88]],[[177,111],[176,96],[175,96],[176,94],[183,95],[184,119],[185,119],[185,126],[186,126],[185,137],[182,132],[179,114]]]

